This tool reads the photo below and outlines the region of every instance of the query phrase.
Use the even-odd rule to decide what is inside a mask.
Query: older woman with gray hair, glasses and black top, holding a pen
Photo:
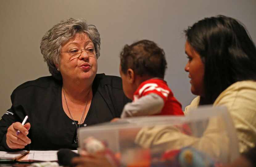
[[[96,27],[84,19],[62,20],[46,32],[40,49],[52,76],[13,91],[0,120],[1,150],[76,149],[79,128],[120,116],[129,100],[120,77],[96,74],[100,44]]]

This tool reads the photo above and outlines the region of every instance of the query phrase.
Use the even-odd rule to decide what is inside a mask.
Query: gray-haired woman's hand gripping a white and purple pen
[[[30,123],[22,125],[20,122],[14,122],[9,126],[6,133],[6,144],[10,149],[23,149],[26,145],[31,143],[27,137]],[[17,131],[20,133],[17,133]]]

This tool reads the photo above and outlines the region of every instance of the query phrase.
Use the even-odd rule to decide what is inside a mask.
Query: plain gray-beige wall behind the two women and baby
[[[101,34],[98,73],[118,75],[125,44],[153,40],[166,53],[165,79],[183,108],[190,92],[183,30],[209,16],[224,14],[243,22],[256,41],[255,0],[0,0],[0,115],[11,106],[11,92],[20,84],[50,75],[39,43],[65,18],[85,18]],[[26,98],[26,97],[24,97]]]

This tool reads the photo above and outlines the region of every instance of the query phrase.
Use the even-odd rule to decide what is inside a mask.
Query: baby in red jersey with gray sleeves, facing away
[[[120,54],[123,91],[133,102],[125,105],[121,118],[146,115],[184,115],[164,81],[165,53],[154,42],[141,40],[125,45]]]

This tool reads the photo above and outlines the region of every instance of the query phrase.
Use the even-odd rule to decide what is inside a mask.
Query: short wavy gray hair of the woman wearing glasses
[[[49,72],[58,80],[62,76],[55,64],[60,64],[61,44],[68,42],[74,38],[77,33],[85,33],[93,41],[96,57],[100,56],[101,38],[100,34],[94,25],[88,25],[83,18],[74,19],[68,18],[61,20],[60,23],[48,30],[41,40],[40,49],[44,61],[47,63]]]

